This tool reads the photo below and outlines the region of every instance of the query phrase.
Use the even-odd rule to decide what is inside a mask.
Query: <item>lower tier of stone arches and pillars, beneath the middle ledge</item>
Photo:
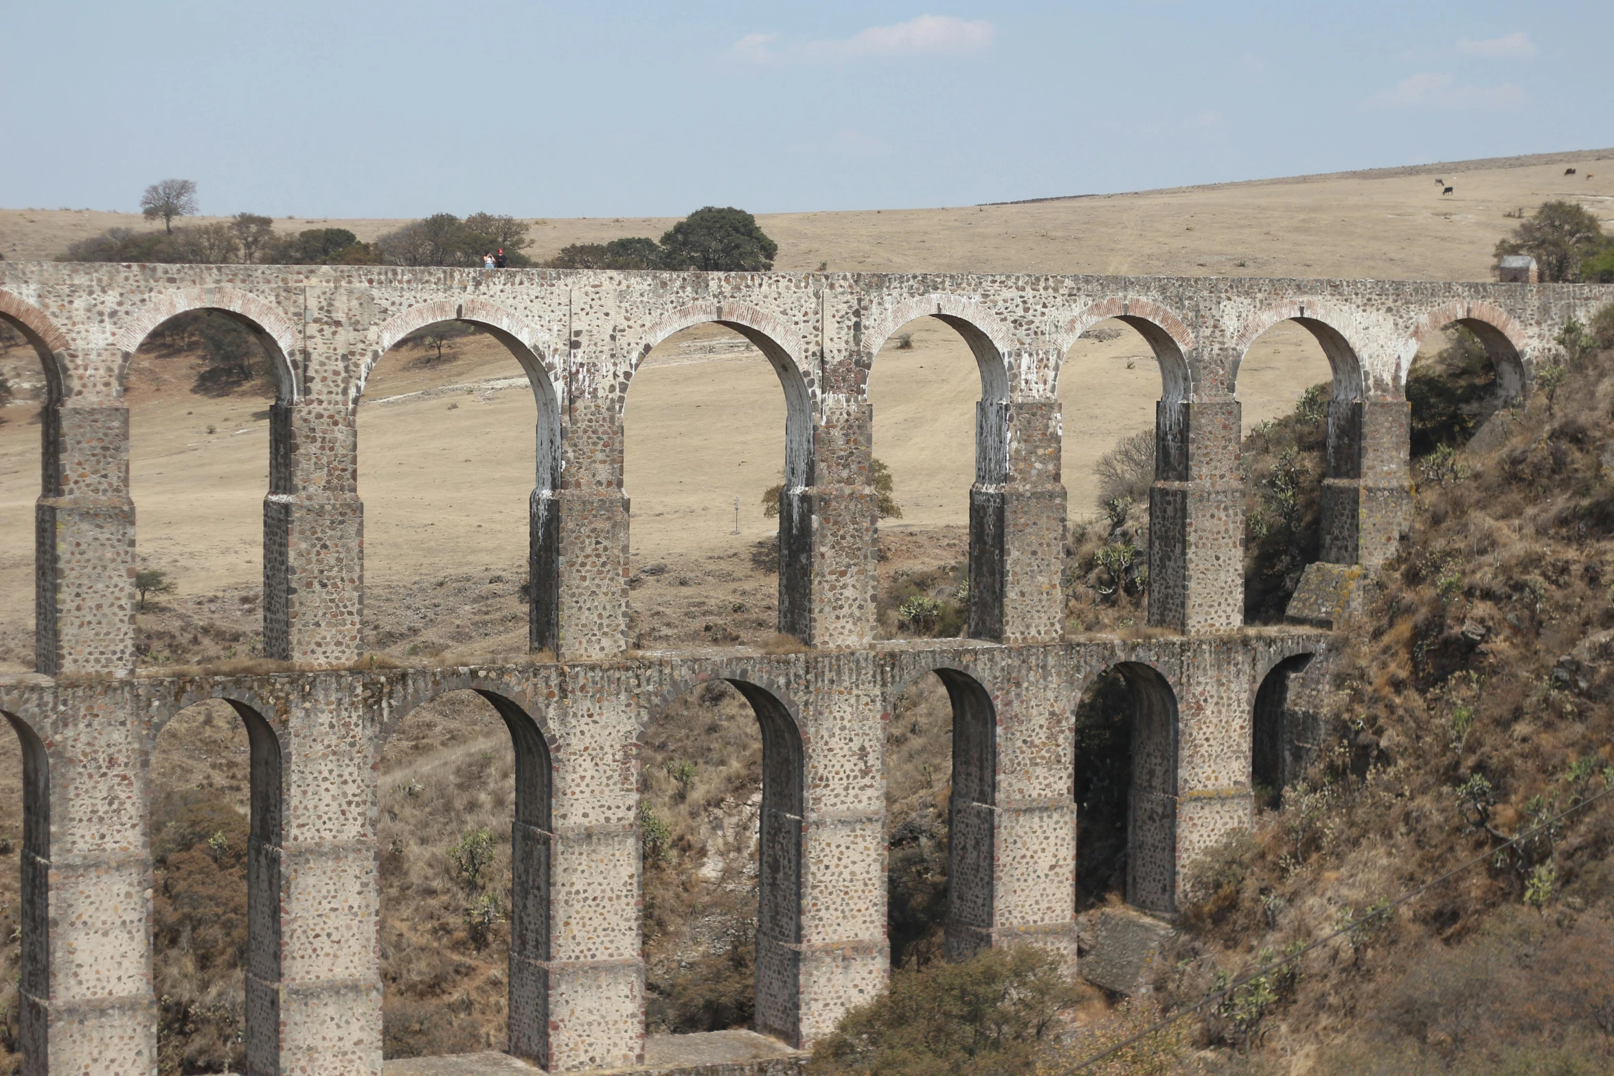
[[[1294,629],[0,679],[24,763],[24,1071],[155,1065],[148,760],[163,726],[202,700],[226,700],[252,745],[249,1071],[379,1073],[379,758],[413,708],[455,690],[492,703],[515,749],[505,1047],[571,1071],[642,1061],[638,752],[657,708],[691,687],[726,681],[760,724],[757,1026],[810,1047],[889,973],[886,728],[915,679],[938,676],[952,708],[947,953],[1033,942],[1075,968],[1075,789],[1096,765],[1077,736],[1083,699],[1106,674],[1130,690],[1127,899],[1170,916],[1185,866],[1249,824],[1285,734],[1278,684],[1328,642]]]

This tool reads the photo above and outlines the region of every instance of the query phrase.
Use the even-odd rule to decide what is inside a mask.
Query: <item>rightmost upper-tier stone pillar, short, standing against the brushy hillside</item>
[[[1396,552],[1412,526],[1411,426],[1406,400],[1328,405],[1322,560],[1377,568]]]

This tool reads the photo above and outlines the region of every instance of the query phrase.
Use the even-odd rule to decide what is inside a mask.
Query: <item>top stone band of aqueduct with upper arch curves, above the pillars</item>
[[[1167,402],[1231,397],[1246,348],[1283,319],[1319,339],[1336,395],[1393,398],[1419,344],[1451,323],[1485,340],[1504,387],[1525,392],[1564,321],[1587,321],[1608,302],[1614,286],[1595,284],[0,266],[0,318],[40,352],[61,400],[118,398],[128,355],[190,310],[218,310],[253,331],[282,403],[313,395],[349,407],[379,355],[434,321],[486,326],[560,411],[573,397],[620,397],[657,342],[717,323],[768,357],[796,427],[830,397],[863,398],[880,347],[920,316],[965,337],[986,400],[1051,398],[1068,347],[1106,318],[1148,339]]]

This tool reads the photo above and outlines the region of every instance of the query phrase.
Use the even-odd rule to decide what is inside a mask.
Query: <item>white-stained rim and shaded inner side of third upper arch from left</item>
[[[526,374],[537,416],[534,436],[533,492],[528,495],[528,645],[533,650],[558,649],[560,642],[560,513],[555,492],[562,471],[563,379],[555,366],[555,348],[547,334],[508,310],[487,300],[442,298],[410,307],[374,329],[374,347],[352,386],[350,407],[357,439],[357,408],[370,374],[383,355],[410,332],[442,321],[475,326],[497,340]],[[287,490],[289,492],[289,490]]]

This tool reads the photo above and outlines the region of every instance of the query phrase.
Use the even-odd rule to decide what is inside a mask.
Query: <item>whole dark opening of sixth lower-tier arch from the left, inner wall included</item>
[[[1159,669],[1120,661],[1088,681],[1075,726],[1077,907],[1083,892],[1102,899],[1123,858],[1127,903],[1175,913],[1177,692]]]

